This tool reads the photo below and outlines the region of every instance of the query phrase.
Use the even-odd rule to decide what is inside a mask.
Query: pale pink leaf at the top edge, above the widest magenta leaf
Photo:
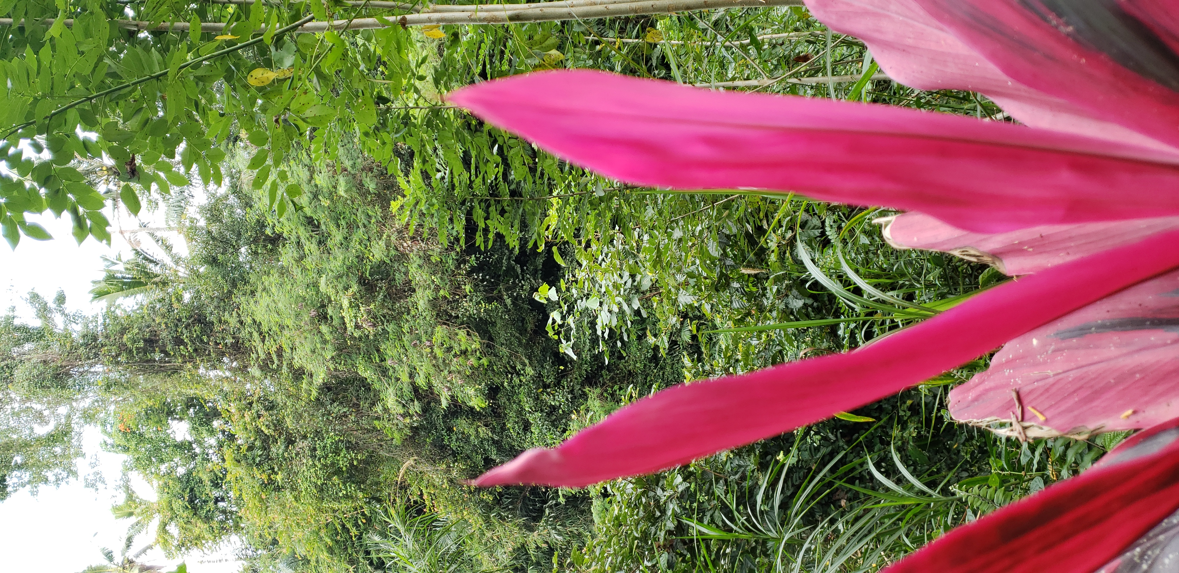
[[[982,92],[1032,127],[1179,152],[1008,78],[950,35],[915,0],[806,0],[806,6],[832,29],[863,40],[881,68],[907,86]]]

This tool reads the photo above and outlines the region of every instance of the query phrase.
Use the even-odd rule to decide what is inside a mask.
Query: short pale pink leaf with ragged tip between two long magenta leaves
[[[1179,229],[1179,217],[1030,226],[1002,233],[963,231],[918,212],[889,217],[883,223],[884,239],[897,249],[949,252],[1010,276]]]

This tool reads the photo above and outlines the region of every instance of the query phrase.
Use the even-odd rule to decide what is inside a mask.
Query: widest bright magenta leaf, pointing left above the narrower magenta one
[[[452,103],[641,185],[792,190],[983,232],[1179,215],[1174,156],[868,104],[712,92],[593,71],[516,75]]]

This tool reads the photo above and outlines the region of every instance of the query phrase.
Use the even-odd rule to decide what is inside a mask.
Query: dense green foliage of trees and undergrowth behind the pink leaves
[[[975,94],[870,80],[863,45],[803,9],[248,45],[259,22],[325,8],[4,6],[74,17],[0,42],[4,123],[35,120],[4,144],[9,242],[44,238],[25,213],[68,211],[79,241],[104,239],[107,199],[134,213],[197,179],[208,197],[176,222],[186,255],[153,236],[163,255],[110,262],[94,295],[120,305],[81,317],[31,297],[40,325],[0,324],[0,495],[73,476],[78,432],[99,423],[158,495],[129,489],[118,515],[170,553],[237,535],[251,571],[875,571],[1121,437],[1020,443],[955,424],[946,393],[983,357],[855,413],[875,423],[831,420],[579,492],[461,485],[660,388],[856,348],[1000,278],[887,246],[871,223],[887,210],[620,185],[440,99],[571,66],[996,114]],[[106,20],[125,9],[228,21],[238,38]],[[98,73],[65,65],[79,58]],[[255,86],[255,67],[292,71]],[[164,70],[38,120],[53,98]],[[817,75],[861,80],[790,81]],[[52,157],[34,158],[42,145]]]

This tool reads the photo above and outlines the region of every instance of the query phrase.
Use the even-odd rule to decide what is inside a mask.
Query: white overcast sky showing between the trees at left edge
[[[126,216],[124,216],[126,218]],[[31,317],[25,295],[37,290],[52,299],[58,289],[66,294],[66,305],[71,310],[93,312],[99,307],[90,304],[90,282],[101,276],[101,255],[114,256],[127,250],[118,233],[113,246],[106,246],[93,238],[80,246],[70,235],[70,217],[54,219],[46,212],[29,220],[41,223],[53,241],[38,242],[22,237],[13,251],[0,241],[0,303],[4,309],[17,307],[21,317]],[[112,219],[114,220],[114,219]],[[124,226],[137,224],[124,220]],[[42,488],[37,498],[27,492],[13,494],[0,502],[0,571],[39,573],[78,573],[88,565],[103,562],[99,549],[108,547],[118,555],[129,521],[118,521],[111,514],[111,506],[121,501],[120,472],[123,456],[101,450],[101,435],[91,429],[85,439],[90,460],[80,462],[80,474],[95,469],[105,476],[106,486],[99,490],[87,489],[81,480],[74,480],[60,488]],[[92,469],[91,465],[97,468]],[[150,486],[134,480],[136,492],[152,499]],[[141,535],[134,549],[149,539]],[[231,549],[215,555],[185,555],[183,561],[192,573],[231,573],[241,564],[231,556]],[[143,561],[154,565],[174,565],[182,559],[164,559],[159,552],[149,553]],[[169,567],[167,571],[171,571]]]

